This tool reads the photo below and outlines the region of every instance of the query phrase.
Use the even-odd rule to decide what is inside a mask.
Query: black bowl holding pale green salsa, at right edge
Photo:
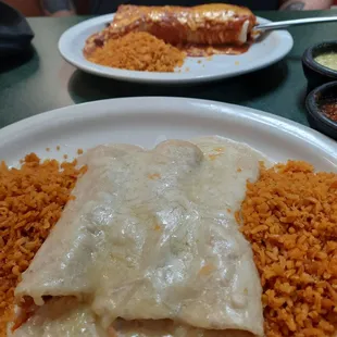
[[[309,90],[332,80],[337,80],[337,71],[330,70],[314,61],[314,58],[326,52],[337,52],[337,41],[326,41],[308,48],[302,57],[302,66],[308,79]]]

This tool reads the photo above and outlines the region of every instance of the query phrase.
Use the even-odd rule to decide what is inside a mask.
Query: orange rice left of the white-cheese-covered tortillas
[[[86,167],[76,161],[40,162],[28,154],[22,167],[0,165],[0,336],[11,320],[14,288],[71,198]]]

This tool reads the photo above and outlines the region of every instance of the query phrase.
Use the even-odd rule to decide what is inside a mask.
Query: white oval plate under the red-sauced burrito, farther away
[[[71,27],[60,38],[59,50],[63,58],[76,67],[96,75],[129,82],[143,83],[198,83],[237,76],[265,67],[283,59],[292,47],[292,37],[286,30],[267,34],[261,41],[251,46],[241,55],[214,55],[207,58],[187,58],[182,71],[175,73],[150,73],[125,71],[87,61],[83,55],[86,39],[104,28],[113,14],[98,16]],[[259,17],[260,23],[269,22]],[[198,63],[201,61],[201,63]]]

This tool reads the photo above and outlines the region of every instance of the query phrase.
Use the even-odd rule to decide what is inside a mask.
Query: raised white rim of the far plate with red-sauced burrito
[[[285,29],[280,30],[275,30],[275,34],[278,34],[284,41],[285,46],[280,50],[279,54],[275,57],[274,59],[267,60],[267,62],[260,63],[255,65],[253,68],[244,68],[244,70],[238,70],[235,73],[226,74],[226,73],[220,73],[220,74],[202,74],[202,75],[190,75],[188,74],[183,74],[186,76],[183,77],[173,77],[172,75],[176,73],[150,73],[150,72],[136,72],[136,71],[128,71],[128,70],[118,70],[118,68],[111,68],[113,70],[113,73],[107,72],[105,66],[102,65],[97,65],[97,64],[90,64],[89,61],[87,63],[78,63],[75,58],[66,51],[66,48],[68,46],[68,38],[76,36],[76,32],[78,29],[86,28],[87,26],[92,26],[96,24],[105,24],[111,22],[113,18],[113,15],[115,13],[111,14],[105,14],[105,15],[100,15],[96,16],[89,20],[85,20],[76,25],[71,26],[67,28],[63,34],[61,35],[59,42],[58,42],[58,49],[59,52],[61,53],[62,58],[71,63],[73,66],[75,66],[78,70],[82,70],[86,73],[107,77],[107,78],[114,78],[114,79],[120,79],[120,80],[125,80],[125,82],[134,82],[134,83],[155,83],[155,84],[190,84],[190,83],[203,83],[203,82],[211,82],[211,80],[219,80],[223,78],[230,78],[230,77],[236,77],[242,74],[255,72],[258,70],[264,68],[266,66],[270,66],[282,59],[284,59],[292,49],[294,47],[294,39],[292,36],[290,35],[289,32]],[[258,20],[269,23],[271,22],[267,18],[257,16]],[[108,67],[109,68],[109,67]]]

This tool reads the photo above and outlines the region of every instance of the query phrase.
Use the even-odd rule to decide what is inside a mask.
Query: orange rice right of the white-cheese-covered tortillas
[[[262,165],[237,219],[261,276],[266,336],[336,333],[337,174]]]

